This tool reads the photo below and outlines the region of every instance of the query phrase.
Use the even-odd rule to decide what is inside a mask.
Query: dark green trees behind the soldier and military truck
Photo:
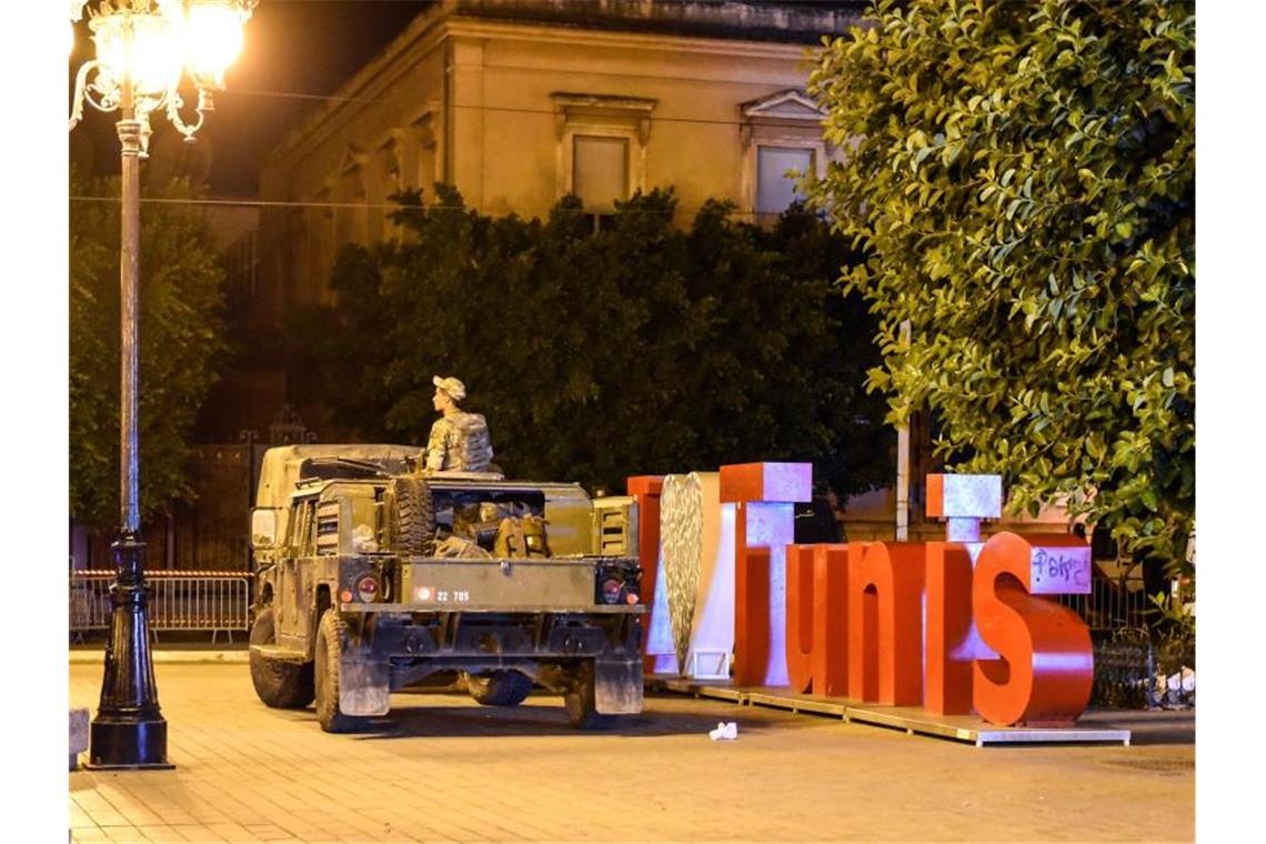
[[[518,477],[623,488],[629,475],[814,461],[841,492],[890,476],[879,357],[847,252],[798,210],[762,232],[708,202],[674,227],[671,190],[598,233],[575,197],[546,220],[489,218],[436,186],[400,197],[400,244],[346,247],[334,309],[291,325],[323,430],[425,442],[433,375],[457,375]]]

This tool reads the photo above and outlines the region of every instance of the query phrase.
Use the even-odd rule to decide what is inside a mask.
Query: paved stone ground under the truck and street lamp
[[[648,697],[611,730],[561,698],[396,695],[361,735],[265,707],[244,664],[156,664],[173,771],[70,774],[72,841],[1191,840],[1195,745],[986,747]],[[70,667],[96,711],[100,663]],[[737,721],[737,742],[709,729]]]

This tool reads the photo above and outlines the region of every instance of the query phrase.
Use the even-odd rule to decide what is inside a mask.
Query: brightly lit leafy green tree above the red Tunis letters
[[[1191,3],[882,0],[812,94],[815,205],[868,259],[868,385],[1014,510],[1177,563],[1195,510]],[[909,320],[909,340],[901,323]]]

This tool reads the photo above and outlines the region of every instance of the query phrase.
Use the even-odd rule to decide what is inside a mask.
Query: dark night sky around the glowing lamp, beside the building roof
[[[166,116],[154,116],[148,167],[172,157],[205,175],[213,196],[253,196],[260,164],[304,118],[433,0],[262,0],[246,27],[246,46],[229,68],[215,111],[197,143],[180,142]],[[81,24],[71,72],[91,58]],[[186,96],[192,102],[192,95]],[[186,106],[186,119],[194,116]],[[115,115],[89,110],[71,133],[72,161],[97,173],[116,173]]]

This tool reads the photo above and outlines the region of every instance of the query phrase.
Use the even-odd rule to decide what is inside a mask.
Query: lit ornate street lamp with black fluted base
[[[149,148],[149,115],[166,113],[186,140],[213,110],[211,91],[224,86],[224,70],[242,48],[242,27],[257,0],[101,0],[89,9],[96,58],[75,77],[70,128],[84,104],[118,111],[123,146],[120,285],[119,537],[110,588],[110,636],[105,645],[101,702],[92,720],[89,767],[170,768],[167,721],[158,707],[149,621],[146,612],[144,543],[141,542],[139,448],[137,425],[137,283],[141,220],[139,159]],[[87,0],[71,0],[80,20]],[[196,120],[181,118],[177,86],[187,72],[197,89]]]

